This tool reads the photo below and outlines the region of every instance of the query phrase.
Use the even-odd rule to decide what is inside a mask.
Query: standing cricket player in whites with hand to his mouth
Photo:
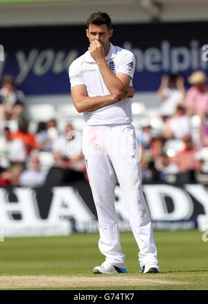
[[[128,272],[114,207],[116,178],[139,246],[141,273],[158,273],[157,248],[131,124],[135,56],[110,43],[113,29],[105,12],[89,16],[86,34],[88,51],[71,63],[69,78],[75,108],[83,112],[83,153],[98,215],[98,247],[105,255],[105,262],[93,273]]]

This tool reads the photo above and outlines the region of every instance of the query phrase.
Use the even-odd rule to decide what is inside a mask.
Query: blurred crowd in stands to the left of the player
[[[24,92],[16,88],[15,79],[10,75],[3,76],[0,89],[0,187],[67,185],[80,179],[87,180],[81,143],[74,138],[73,126],[67,123],[64,133],[60,133],[54,118],[39,122],[37,132],[31,132],[31,121],[24,115],[25,100]],[[16,121],[17,130],[10,130],[10,121]],[[42,153],[46,153],[46,159],[41,160]],[[44,163],[49,160],[50,166],[44,168]]]

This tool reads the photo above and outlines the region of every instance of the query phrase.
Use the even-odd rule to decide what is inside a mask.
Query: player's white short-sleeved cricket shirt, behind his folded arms
[[[110,50],[105,60],[114,74],[128,74],[133,78],[135,56],[130,51],[121,49],[121,47],[115,47],[110,43]],[[69,67],[69,79],[71,87],[75,85],[85,85],[89,97],[110,94],[103,81],[98,65],[89,51],[71,63]],[[112,105],[107,105],[93,112],[84,112],[83,118],[84,123],[88,126],[126,124],[132,121],[131,99],[125,99]]]

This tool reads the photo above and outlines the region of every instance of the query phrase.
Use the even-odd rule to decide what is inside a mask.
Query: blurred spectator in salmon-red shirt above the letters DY
[[[184,149],[171,158],[171,163],[176,164],[178,167],[178,182],[196,182],[195,171],[201,171],[202,162],[196,159],[196,152],[198,150],[193,146],[191,135],[184,135],[182,140],[184,142]]]

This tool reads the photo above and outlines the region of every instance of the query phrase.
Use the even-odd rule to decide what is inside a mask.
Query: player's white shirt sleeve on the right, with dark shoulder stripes
[[[116,74],[123,73],[133,78],[135,73],[135,64],[136,60],[134,54],[130,51],[125,50],[125,53],[119,62],[119,66],[116,69]]]

